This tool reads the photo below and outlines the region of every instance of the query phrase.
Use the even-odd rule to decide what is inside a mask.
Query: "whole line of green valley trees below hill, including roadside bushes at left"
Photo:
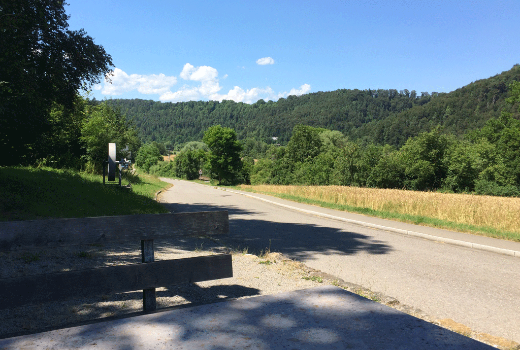
[[[512,83],[510,92],[505,102],[520,112],[520,82]],[[303,124],[293,128],[287,145],[253,139],[239,142],[235,130],[218,125],[204,132],[202,142],[187,143],[173,161],[155,159],[148,171],[193,180],[204,169],[227,184],[343,185],[519,196],[520,120],[508,110],[504,108],[499,117],[461,138],[439,125],[408,138],[400,147],[350,141],[340,131]],[[217,167],[226,169],[226,176]]]

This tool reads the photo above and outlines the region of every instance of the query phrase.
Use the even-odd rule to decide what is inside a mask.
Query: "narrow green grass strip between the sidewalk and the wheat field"
[[[304,203],[304,204],[315,205],[315,206],[319,206],[319,207],[323,207],[323,208],[347,211],[347,212],[352,212],[352,213],[359,213],[359,214],[376,217],[376,218],[395,220],[395,221],[400,221],[400,222],[407,222],[407,223],[423,225],[423,226],[428,226],[428,227],[443,228],[445,230],[450,230],[450,231],[465,232],[465,233],[471,233],[471,234],[480,235],[480,236],[506,239],[506,240],[512,240],[512,241],[517,241],[517,242],[520,241],[520,233],[497,230],[496,228],[493,228],[493,227],[475,226],[475,225],[470,225],[470,224],[456,223],[456,222],[436,219],[436,218],[428,218],[428,217],[423,217],[423,216],[419,217],[419,216],[395,213],[395,212],[390,212],[390,211],[378,211],[378,210],[373,210],[370,208],[339,205],[339,204],[329,203],[326,201],[309,199],[309,198],[305,198],[305,197],[288,195],[288,194],[280,194],[280,193],[272,193],[272,192],[264,192],[264,191],[253,191],[250,189],[243,189],[241,187],[233,187],[233,188],[235,188],[236,190],[240,190],[240,191],[262,193],[262,194],[270,195],[273,197],[291,200],[291,201],[294,201],[297,203]]]

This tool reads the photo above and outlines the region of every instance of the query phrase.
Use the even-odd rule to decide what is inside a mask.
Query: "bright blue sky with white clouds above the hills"
[[[69,0],[112,56],[90,97],[259,99],[336,89],[449,92],[520,63],[520,1]]]

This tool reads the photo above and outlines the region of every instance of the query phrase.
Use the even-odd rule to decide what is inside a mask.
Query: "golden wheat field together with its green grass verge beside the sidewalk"
[[[344,186],[241,185],[238,189],[373,217],[520,241],[520,198]]]

